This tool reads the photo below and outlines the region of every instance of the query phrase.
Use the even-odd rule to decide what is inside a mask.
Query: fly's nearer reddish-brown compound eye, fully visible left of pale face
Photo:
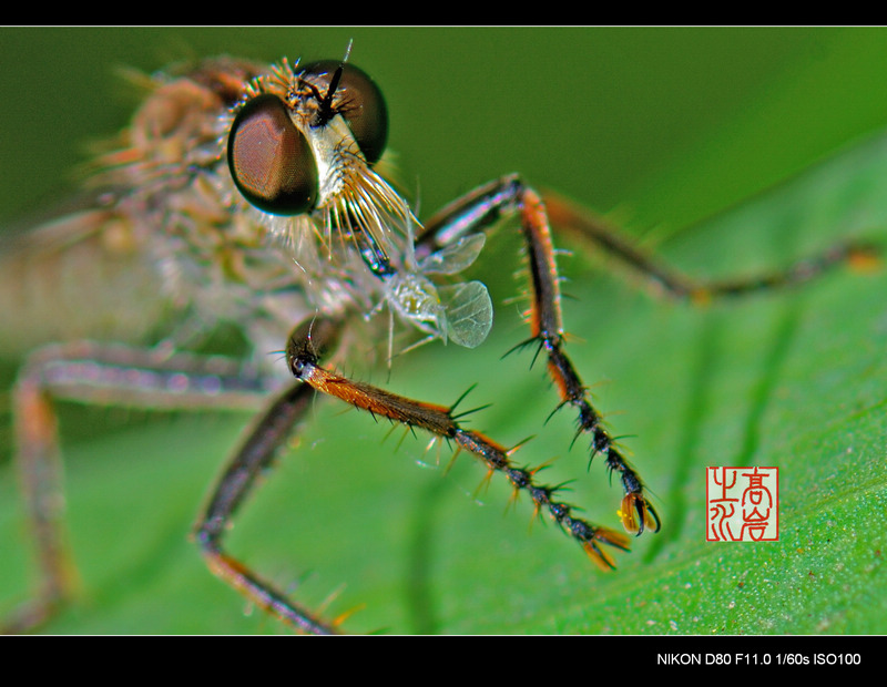
[[[317,201],[317,165],[283,101],[271,93],[241,107],[228,134],[228,167],[243,196],[273,215],[299,215]]]

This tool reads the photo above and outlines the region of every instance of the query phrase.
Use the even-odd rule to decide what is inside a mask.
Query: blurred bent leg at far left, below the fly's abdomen
[[[152,410],[255,409],[268,389],[268,380],[224,358],[86,341],[47,346],[32,353],[16,383],[13,416],[16,460],[40,586],[34,598],[0,619],[0,630],[34,629],[78,589],[68,545],[55,401]]]

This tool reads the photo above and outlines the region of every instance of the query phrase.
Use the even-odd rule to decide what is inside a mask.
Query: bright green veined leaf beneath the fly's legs
[[[879,229],[885,180],[887,139],[868,141],[684,235],[669,253],[712,275],[784,264]],[[573,286],[582,297],[568,304],[567,319],[588,340],[570,350],[588,379],[612,380],[595,386],[595,398],[616,434],[636,434],[624,444],[664,521],[660,534],[620,556],[618,573],[592,568],[551,526],[528,534],[527,503],[502,517],[502,480],[473,496],[482,469],[470,458],[445,475],[446,450],[426,454],[424,440],[407,435],[395,451],[400,430],[383,444],[386,427],[333,403],[318,407],[299,450],[238,519],[233,551],[284,585],[307,574],[299,598],[317,602],[347,583],[334,606],[367,604],[348,625],[356,630],[881,632],[884,274],[839,271],[701,309],[651,300],[609,277]],[[412,396],[434,388],[447,402],[472,371],[493,368],[469,398],[495,404],[472,416],[472,427],[495,429],[506,443],[539,431],[519,459],[559,457],[546,479],[574,479],[571,500],[614,525],[618,490],[602,488],[600,464],[585,473],[583,445],[568,451],[569,411],[542,425],[555,402],[542,366],[528,375],[529,356],[498,359],[511,335],[480,351],[424,351],[397,366],[390,388]],[[453,380],[452,370],[466,377]],[[618,409],[625,412],[612,414]],[[182,536],[216,457],[244,421],[182,417],[68,450],[89,604],[64,613],[53,632],[277,630],[241,617],[239,602]],[[779,468],[778,543],[706,543],[705,468],[753,464]],[[9,480],[2,484],[6,506]],[[9,541],[12,516],[3,513]]]

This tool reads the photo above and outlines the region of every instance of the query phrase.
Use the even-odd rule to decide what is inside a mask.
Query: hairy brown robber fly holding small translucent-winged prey
[[[59,314],[54,342],[33,350],[14,389],[17,460],[42,583],[33,601],[6,618],[7,629],[40,625],[72,595],[54,400],[253,408],[266,398],[194,537],[212,572],[252,603],[300,632],[332,633],[336,622],[300,606],[225,548],[238,507],[320,394],[473,455],[603,570],[614,567],[612,551],[628,551],[629,535],[660,529],[640,474],[567,355],[552,226],[685,299],[794,284],[865,252],[842,247],[762,279],[703,285],[567,201],[543,202],[517,175],[420,222],[381,172],[387,125],[380,89],[347,55],[271,66],[220,58],[173,69],[151,79],[130,125],[93,161],[80,206],[7,240],[0,269],[19,285],[6,295],[8,307]],[[367,340],[378,342],[389,363],[425,344],[482,345],[492,303],[481,281],[463,275],[485,255],[489,232],[509,216],[517,217],[529,276],[528,335],[517,344],[546,361],[559,408],[574,413],[574,440],[618,476],[625,532],[578,515],[538,469],[463,427],[456,404],[397,396],[334,365]],[[54,284],[35,281],[35,260],[41,279],[52,275]],[[94,295],[93,307],[71,308],[73,320],[62,316],[71,279],[79,301],[83,293]],[[131,303],[140,304],[137,311]],[[225,322],[242,331],[249,360],[259,363],[188,352]],[[285,383],[266,355],[282,349],[290,375]]]

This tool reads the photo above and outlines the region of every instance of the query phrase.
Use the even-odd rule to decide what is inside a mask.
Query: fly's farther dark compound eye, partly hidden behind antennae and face
[[[302,78],[326,94],[341,62],[322,60],[305,66]],[[373,164],[381,157],[388,142],[388,109],[376,82],[364,71],[346,63],[333,99],[333,109],[345,117],[360,152]]]

